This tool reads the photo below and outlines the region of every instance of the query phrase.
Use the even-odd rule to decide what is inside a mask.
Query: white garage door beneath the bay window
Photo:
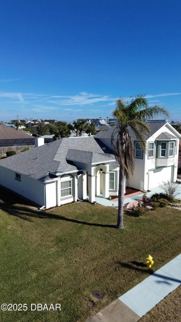
[[[149,171],[148,190],[158,187],[163,181],[171,180],[172,166]]]

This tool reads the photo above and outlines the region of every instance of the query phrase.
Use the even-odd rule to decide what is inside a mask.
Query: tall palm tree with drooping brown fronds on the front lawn
[[[129,129],[134,131],[143,152],[146,152],[146,138],[144,133],[150,129],[146,121],[162,114],[169,118],[169,113],[163,107],[154,105],[149,107],[148,101],[143,95],[131,97],[126,102],[119,98],[116,100],[116,109],[113,117],[117,119],[117,126],[114,128],[111,138],[111,145],[116,160],[119,162],[119,193],[118,193],[118,220],[116,228],[123,229],[123,205],[125,177],[128,179],[134,174],[134,147]]]

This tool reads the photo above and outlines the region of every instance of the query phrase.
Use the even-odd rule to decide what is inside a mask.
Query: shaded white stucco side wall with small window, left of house
[[[38,180],[21,175],[21,181],[15,180],[15,172],[0,166],[0,185],[44,206],[44,185]]]

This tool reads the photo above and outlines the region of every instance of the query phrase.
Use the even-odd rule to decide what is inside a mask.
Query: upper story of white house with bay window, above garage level
[[[152,169],[174,164],[177,166],[181,135],[169,123],[147,122],[147,125],[150,133],[145,133],[145,139],[147,140],[146,153],[141,149],[136,134],[129,128],[134,147],[136,167]],[[111,137],[113,131],[116,131],[116,127],[115,125],[108,131],[100,132],[95,137],[111,148]]]

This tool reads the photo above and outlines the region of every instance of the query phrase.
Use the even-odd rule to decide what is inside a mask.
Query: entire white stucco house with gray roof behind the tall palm
[[[135,147],[135,174],[129,186],[151,190],[163,180],[176,181],[181,135],[169,123],[147,123],[148,152]],[[116,127],[116,126],[115,126]],[[115,127],[95,137],[67,137],[44,145],[35,138],[35,148],[0,161],[0,185],[46,209],[78,199],[94,202],[95,196],[118,194],[119,165],[111,150]]]

